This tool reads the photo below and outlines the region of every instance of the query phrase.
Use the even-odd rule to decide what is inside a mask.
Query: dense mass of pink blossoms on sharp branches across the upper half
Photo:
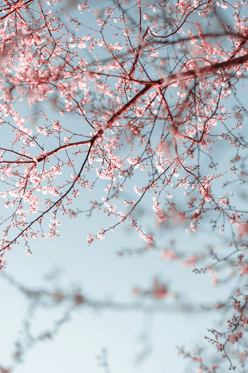
[[[233,12],[232,32],[210,30],[219,20],[218,6]],[[248,66],[246,19],[240,19],[242,3],[180,1],[169,6],[139,0],[136,8],[140,15],[136,27],[121,7],[107,7],[101,19],[91,12],[96,26],[90,32],[82,23],[90,12],[87,3],[78,7],[82,22],[69,15],[67,23],[60,21],[63,10],[54,13],[56,1],[47,5],[18,1],[1,10],[1,126],[6,132],[10,128],[14,135],[9,147],[1,148],[1,179],[7,185],[1,197],[6,208],[14,209],[10,217],[3,217],[8,239],[4,234],[2,253],[19,238],[28,245],[28,239],[38,235],[35,222],[41,225],[49,211],[54,216],[59,211],[66,214],[67,206],[80,193],[77,185],[92,190],[99,179],[111,182],[105,189],[107,196],[103,196],[108,215],[120,217],[118,223],[131,219],[131,226],[147,242],[152,236],[141,230],[131,215],[146,192],[159,193],[160,199],[167,200],[173,198],[171,189],[178,187],[186,189],[186,197],[194,194],[190,213],[181,211],[184,219],[191,220],[188,232],[197,229],[206,205],[222,212],[223,219],[232,220],[229,195],[217,198],[212,187],[225,172],[207,175],[200,156],[205,153],[211,168],[216,168],[211,154],[219,140],[225,138],[240,152],[239,148],[246,147],[244,138],[233,131],[242,127],[244,109],[237,107],[227,113],[225,108],[225,101],[235,94],[234,84]],[[201,24],[192,22],[194,14],[202,19]],[[162,19],[168,22],[161,23]],[[114,44],[107,41],[107,26],[114,31]],[[99,57],[89,62],[81,49],[95,50]],[[147,59],[152,67],[149,70]],[[66,117],[77,113],[82,128],[67,126],[66,117],[49,120],[50,114],[42,111],[35,120],[44,120],[44,124],[31,130],[31,118],[18,113],[19,102],[26,100],[31,108],[41,102],[59,105],[58,112]],[[7,122],[8,116],[11,120]],[[236,123],[230,128],[234,118]],[[238,151],[230,168],[235,175],[241,159]],[[82,154],[83,166],[78,169],[76,159],[82,159]],[[196,157],[199,164],[194,163]],[[73,170],[71,181],[60,178],[57,184],[55,178],[66,166]],[[140,198],[135,204],[125,201],[127,210],[117,212],[117,203],[110,206],[109,200],[115,196],[121,201],[124,182],[136,169],[148,175],[143,186],[134,186]],[[89,173],[87,180],[82,175],[85,172]],[[243,180],[244,173],[238,177]],[[41,194],[47,195],[44,201]],[[159,221],[173,216],[171,208],[166,210],[157,197],[153,202]],[[128,205],[133,206],[130,209]],[[31,222],[29,214],[36,215]],[[242,227],[238,211],[236,222]],[[16,227],[18,234],[11,236],[10,227]],[[49,235],[57,235],[58,229],[50,228]],[[101,234],[91,233],[88,242],[102,239],[105,230],[108,228]]]

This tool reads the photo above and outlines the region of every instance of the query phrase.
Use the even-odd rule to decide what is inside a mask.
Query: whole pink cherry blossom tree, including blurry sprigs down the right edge
[[[92,223],[88,244],[111,241],[111,231],[130,225],[146,248],[155,247],[136,212],[144,205],[163,226],[181,221],[190,234],[210,221],[231,232],[228,254],[210,249],[209,264],[207,256],[166,248],[162,259],[210,271],[213,282],[219,267],[242,280],[231,295],[227,331],[209,329],[206,338],[230,369],[236,358],[243,372],[248,223],[245,208],[232,201],[248,176],[240,97],[247,1],[117,0],[104,11],[85,1],[70,15],[56,0],[4,0],[0,13],[0,268],[16,244],[32,254],[31,238],[59,236],[68,215],[82,210],[108,217],[102,226]],[[88,199],[83,188],[92,196],[86,209],[73,204],[84,193]],[[170,294],[156,281],[141,293]],[[179,352],[199,373],[219,369]]]

